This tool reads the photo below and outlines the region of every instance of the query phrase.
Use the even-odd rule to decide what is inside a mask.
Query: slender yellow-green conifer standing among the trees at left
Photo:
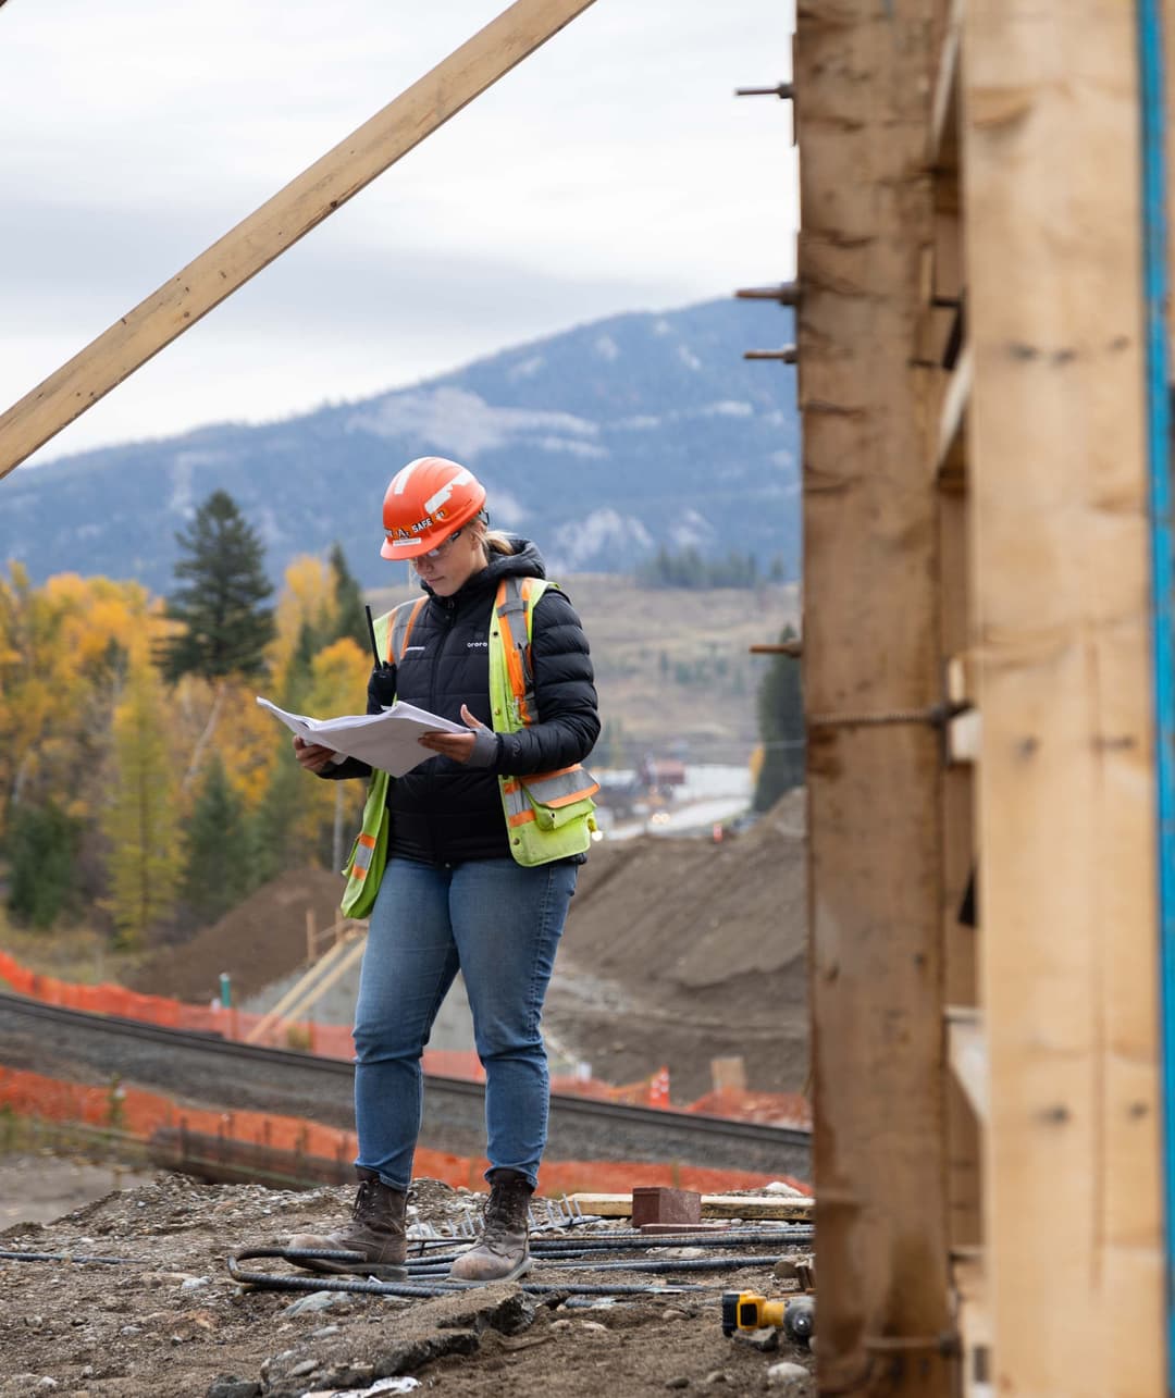
[[[115,712],[115,786],[102,811],[111,842],[109,910],[124,946],[175,905],[179,881],[179,815],[175,773],[166,751],[162,695],[147,664],[131,668],[126,698]]]

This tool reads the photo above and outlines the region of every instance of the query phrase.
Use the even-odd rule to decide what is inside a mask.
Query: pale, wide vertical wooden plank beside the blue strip
[[[1167,1390],[1134,25],[1095,0],[965,14],[1000,1394]]]

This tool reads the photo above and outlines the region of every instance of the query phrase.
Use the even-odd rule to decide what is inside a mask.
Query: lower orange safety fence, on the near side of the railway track
[[[213,1111],[179,1106],[171,1097],[140,1088],[62,1082],[38,1072],[0,1067],[0,1109],[24,1117],[49,1121],[76,1121],[150,1141],[158,1131],[180,1128],[287,1151],[291,1156],[319,1156],[346,1163],[354,1159],[357,1141],[352,1131],[340,1131],[299,1117],[271,1116],[262,1111]],[[449,1155],[418,1146],[414,1174],[445,1184],[481,1190],[484,1156]],[[772,1180],[783,1180],[810,1192],[790,1176],[757,1174],[750,1170],[709,1170],[687,1165],[649,1165],[627,1160],[547,1160],[539,1172],[539,1188],[547,1195],[592,1191],[629,1192],[636,1186],[670,1186],[715,1194],[729,1190],[755,1190]]]

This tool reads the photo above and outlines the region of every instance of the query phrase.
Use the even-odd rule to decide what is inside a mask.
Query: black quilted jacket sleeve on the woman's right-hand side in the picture
[[[600,735],[596,677],[579,615],[558,589],[534,608],[530,635],[537,723],[504,733],[494,770],[526,776],[583,762]]]

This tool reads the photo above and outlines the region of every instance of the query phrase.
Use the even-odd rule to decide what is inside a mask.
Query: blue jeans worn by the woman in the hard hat
[[[578,864],[562,861],[387,861],[355,1007],[355,1165],[394,1190],[411,1183],[421,1054],[460,970],[485,1068],[490,1169],[537,1181],[550,1100],[543,998],[578,874]]]

